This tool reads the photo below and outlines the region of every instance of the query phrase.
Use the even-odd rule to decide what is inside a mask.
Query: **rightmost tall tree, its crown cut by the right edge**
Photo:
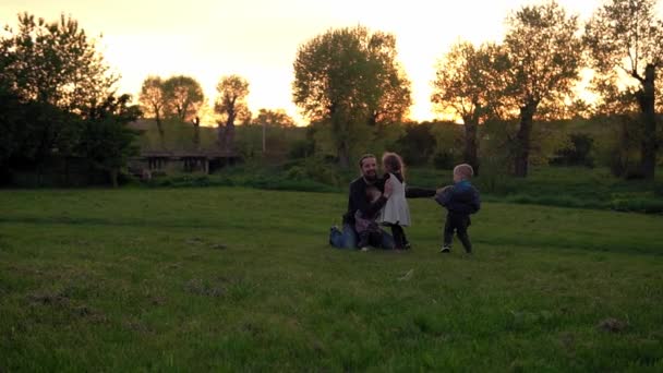
[[[663,65],[663,21],[656,0],[608,0],[586,25],[584,43],[596,71],[594,89],[604,106],[636,103],[642,136],[640,168],[654,178],[656,165],[656,70]],[[618,84],[627,83],[622,92]],[[617,104],[615,104],[617,103]],[[626,110],[628,110],[626,108]]]

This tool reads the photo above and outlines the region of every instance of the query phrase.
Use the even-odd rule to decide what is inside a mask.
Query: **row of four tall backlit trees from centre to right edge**
[[[523,7],[507,25],[502,43],[459,41],[437,68],[431,99],[438,110],[462,118],[465,160],[479,168],[478,125],[517,122],[504,146],[514,173],[526,177],[534,121],[590,109],[575,87],[582,69],[592,69],[592,88],[601,100],[591,109],[641,123],[641,172],[653,178],[656,109],[661,112],[655,73],[663,64],[655,0],[608,0],[584,33],[578,16],[555,1]],[[312,122],[325,123],[342,166],[353,147],[379,139],[411,104],[410,83],[396,56],[393,35],[361,26],[328,31],[298,50],[293,100]]]

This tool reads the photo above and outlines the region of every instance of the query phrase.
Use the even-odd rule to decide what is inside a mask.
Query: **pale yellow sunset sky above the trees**
[[[586,20],[602,2],[558,1]],[[23,11],[55,21],[73,16],[122,79],[121,93],[137,95],[148,74],[186,74],[209,100],[219,77],[250,83],[249,106],[284,108],[303,124],[291,103],[292,62],[299,45],[332,27],[362,24],[396,35],[399,59],[412,81],[414,120],[435,118],[429,100],[438,58],[458,38],[498,40],[504,20],[522,0],[1,0],[0,21],[14,26]],[[663,11],[663,4],[659,9]],[[663,12],[661,12],[663,13]]]

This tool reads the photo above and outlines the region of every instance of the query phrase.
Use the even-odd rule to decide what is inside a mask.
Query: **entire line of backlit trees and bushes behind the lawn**
[[[408,122],[411,82],[393,34],[329,29],[294,56],[292,100],[310,122],[303,131],[291,129],[284,110],[250,112],[250,85],[239,75],[219,79],[212,104],[194,77],[147,76],[132,106],[74,20],[22,14],[17,28],[0,37],[0,175],[7,180],[15,169],[81,158],[117,182],[137,144],[168,149],[166,124],[184,123],[192,129],[189,148],[245,158],[314,156],[349,169],[361,153],[389,149],[412,164],[466,161],[482,172],[490,165],[526,177],[532,164],[564,163],[601,145],[611,158],[601,163],[615,175],[653,179],[663,112],[663,22],[655,7],[655,0],[606,0],[580,24],[547,1],[510,13],[498,43],[458,41],[438,61],[431,101],[463,125]],[[593,74],[595,101],[579,98],[582,72]],[[138,142],[128,128],[141,111],[154,118],[158,141]],[[214,132],[201,127],[208,118]],[[559,124],[572,122],[601,130]],[[297,135],[269,141],[274,129]],[[431,139],[434,151],[418,143]]]

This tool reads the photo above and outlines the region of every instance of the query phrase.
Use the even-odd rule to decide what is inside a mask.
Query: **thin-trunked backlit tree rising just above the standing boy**
[[[463,159],[475,173],[479,171],[477,128],[491,113],[491,105],[496,107],[493,97],[498,94],[495,50],[492,45],[477,48],[471,43],[459,41],[438,62],[433,81],[431,101],[435,108],[441,112],[451,110],[463,121]]]

